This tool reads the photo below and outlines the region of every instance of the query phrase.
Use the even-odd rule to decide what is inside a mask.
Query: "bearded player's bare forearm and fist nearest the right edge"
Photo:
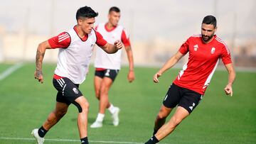
[[[225,94],[227,95],[230,94],[230,96],[233,96],[232,85],[233,85],[233,82],[235,82],[235,69],[232,63],[225,65],[225,67],[228,70],[228,84],[224,88],[224,91],[225,91]]]

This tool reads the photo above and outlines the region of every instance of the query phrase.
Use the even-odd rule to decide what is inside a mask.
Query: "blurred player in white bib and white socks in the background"
[[[120,10],[116,6],[110,8],[108,13],[108,22],[100,23],[96,26],[96,30],[99,31],[103,38],[108,43],[114,43],[115,40],[122,40],[124,43],[127,57],[129,60],[129,72],[127,79],[129,82],[134,80],[134,61],[132,56],[132,49],[129,42],[127,32],[122,26],[118,24],[120,19]],[[91,128],[101,128],[102,121],[105,117],[105,109],[108,109],[112,114],[113,125],[119,124],[119,108],[113,106],[109,101],[108,92],[112,86],[114,79],[121,68],[121,52],[118,50],[114,54],[107,54],[104,50],[97,48],[95,57],[95,96],[99,99],[99,113],[97,114],[96,121],[92,123]]]

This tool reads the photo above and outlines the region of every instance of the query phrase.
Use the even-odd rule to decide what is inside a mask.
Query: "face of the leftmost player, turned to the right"
[[[81,18],[78,19],[78,25],[81,26],[84,33],[90,33],[95,23],[95,18]]]

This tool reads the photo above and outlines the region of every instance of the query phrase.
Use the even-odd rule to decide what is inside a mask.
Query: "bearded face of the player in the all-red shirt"
[[[217,30],[217,27],[214,28],[212,24],[202,23],[201,34],[202,34],[203,42],[208,43],[209,40],[213,38],[213,35],[216,30]]]

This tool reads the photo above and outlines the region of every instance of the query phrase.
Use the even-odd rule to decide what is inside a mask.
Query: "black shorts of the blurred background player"
[[[117,77],[119,70],[95,70],[95,76],[100,77],[103,79],[103,77],[109,77],[114,82],[114,79]]]

